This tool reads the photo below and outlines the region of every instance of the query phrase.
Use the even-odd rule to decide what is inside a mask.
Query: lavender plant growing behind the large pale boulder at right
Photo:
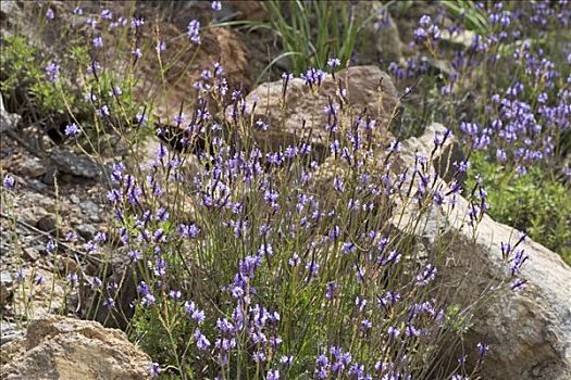
[[[433,119],[446,121],[462,138],[467,154],[474,157],[477,166],[472,173],[480,174],[479,180],[488,188],[497,189],[491,215],[516,224],[568,257],[571,241],[563,230],[571,226],[566,212],[571,199],[563,194],[569,193],[570,173],[571,40],[562,30],[569,28],[569,3],[537,2],[520,8],[511,2],[482,2],[475,9],[459,9],[459,4],[450,8],[446,2],[434,14],[422,16],[412,42],[421,53],[405,64],[388,66],[401,86],[418,83],[409,98],[415,105],[405,116],[412,128],[405,126],[399,135],[418,132],[419,125]],[[458,17],[459,11],[466,17]],[[474,24],[481,16],[486,20],[484,29],[482,23]],[[468,46],[454,42],[470,36]],[[444,67],[436,76],[435,66]],[[474,175],[471,183],[476,181]],[[524,214],[521,204],[525,198],[507,195],[525,176],[534,178],[533,192],[542,193],[538,198],[558,202],[555,208],[562,229],[549,229],[543,223],[538,226],[537,220],[553,218],[547,203]],[[544,197],[545,190],[549,195]]]

